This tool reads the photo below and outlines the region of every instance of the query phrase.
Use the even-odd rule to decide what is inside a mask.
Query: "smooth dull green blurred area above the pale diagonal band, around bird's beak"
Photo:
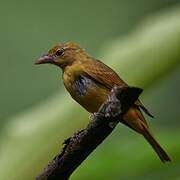
[[[95,56],[104,43],[127,33],[143,16],[178,1],[1,0],[1,127],[7,117],[62,87],[58,70],[33,65],[54,43],[74,41]]]

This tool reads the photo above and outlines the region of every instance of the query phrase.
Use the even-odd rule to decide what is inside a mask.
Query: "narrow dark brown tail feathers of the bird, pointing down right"
[[[155,140],[155,138],[151,135],[148,129],[145,128],[143,136],[149,142],[152,148],[156,151],[157,155],[159,156],[159,158],[161,159],[163,163],[165,163],[166,161],[171,161],[170,157],[167,155],[164,149],[160,146],[160,144]]]

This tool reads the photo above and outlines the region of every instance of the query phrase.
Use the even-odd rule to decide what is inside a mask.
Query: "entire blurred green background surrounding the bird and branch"
[[[180,179],[180,1],[0,1],[0,179],[33,179],[87,124],[61,72],[34,66],[57,42],[74,41],[113,67],[155,116],[152,131],[173,159],[119,125],[72,180]]]

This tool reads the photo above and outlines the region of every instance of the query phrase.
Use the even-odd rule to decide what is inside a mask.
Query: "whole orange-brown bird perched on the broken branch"
[[[63,83],[71,97],[90,113],[98,112],[114,86],[128,87],[109,66],[91,57],[85,49],[73,42],[58,43],[35,64],[53,64],[63,72]],[[171,161],[156,141],[143,112],[153,117],[138,99],[123,115],[123,124],[144,136],[164,163]]]

